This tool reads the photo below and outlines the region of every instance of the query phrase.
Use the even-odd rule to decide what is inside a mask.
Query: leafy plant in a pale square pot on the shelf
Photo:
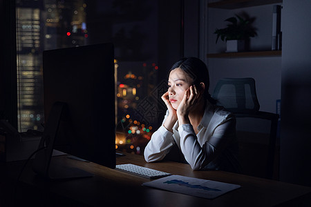
[[[238,52],[245,50],[249,45],[249,38],[257,35],[256,28],[252,26],[255,18],[250,19],[247,14],[245,18],[236,14],[236,17],[230,17],[227,28],[216,29],[214,34],[217,34],[216,43],[220,37],[221,40],[227,42],[226,52]]]

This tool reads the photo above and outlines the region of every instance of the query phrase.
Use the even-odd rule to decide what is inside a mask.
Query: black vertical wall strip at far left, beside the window
[[[15,1],[0,0],[0,119],[17,128]]]

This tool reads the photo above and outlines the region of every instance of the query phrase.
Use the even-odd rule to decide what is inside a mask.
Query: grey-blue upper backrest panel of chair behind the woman
[[[253,78],[220,79],[212,97],[231,112],[256,112],[259,103]]]

